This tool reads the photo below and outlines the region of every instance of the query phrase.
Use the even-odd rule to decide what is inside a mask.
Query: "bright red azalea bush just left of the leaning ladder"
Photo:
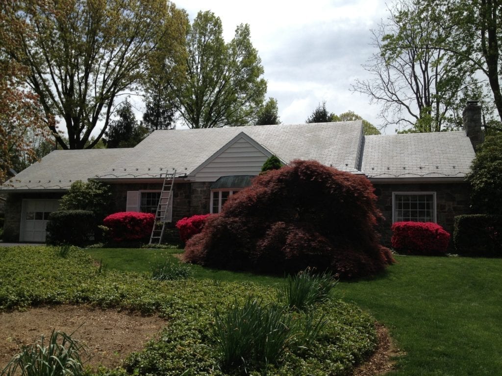
[[[152,234],[155,215],[139,212],[110,214],[103,220],[115,242],[147,240]]]

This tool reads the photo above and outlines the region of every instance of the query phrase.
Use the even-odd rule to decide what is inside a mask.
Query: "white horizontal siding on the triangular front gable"
[[[235,140],[227,149],[195,174],[196,181],[215,181],[226,175],[258,175],[268,155],[244,138]]]

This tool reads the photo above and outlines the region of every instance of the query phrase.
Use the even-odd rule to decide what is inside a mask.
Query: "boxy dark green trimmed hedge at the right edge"
[[[455,252],[462,256],[502,257],[502,216],[455,217],[453,244]]]

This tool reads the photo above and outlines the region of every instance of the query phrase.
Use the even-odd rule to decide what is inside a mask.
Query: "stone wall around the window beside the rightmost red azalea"
[[[393,192],[436,192],[436,219],[450,234],[453,234],[455,216],[469,214],[469,186],[467,183],[441,184],[378,184],[373,183],[378,196],[378,207],[385,216],[380,224],[382,243],[391,244],[392,226],[392,193]],[[451,245],[451,242],[450,242]]]

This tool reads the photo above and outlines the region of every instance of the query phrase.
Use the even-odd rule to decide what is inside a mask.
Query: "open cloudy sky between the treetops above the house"
[[[193,21],[199,11],[221,19],[226,41],[239,24],[248,24],[283,123],[303,123],[326,101],[330,112],[352,110],[380,126],[379,108],[350,91],[366,77],[362,64],[375,52],[370,29],[388,17],[384,0],[224,1],[178,0]],[[386,133],[394,133],[387,129]]]

